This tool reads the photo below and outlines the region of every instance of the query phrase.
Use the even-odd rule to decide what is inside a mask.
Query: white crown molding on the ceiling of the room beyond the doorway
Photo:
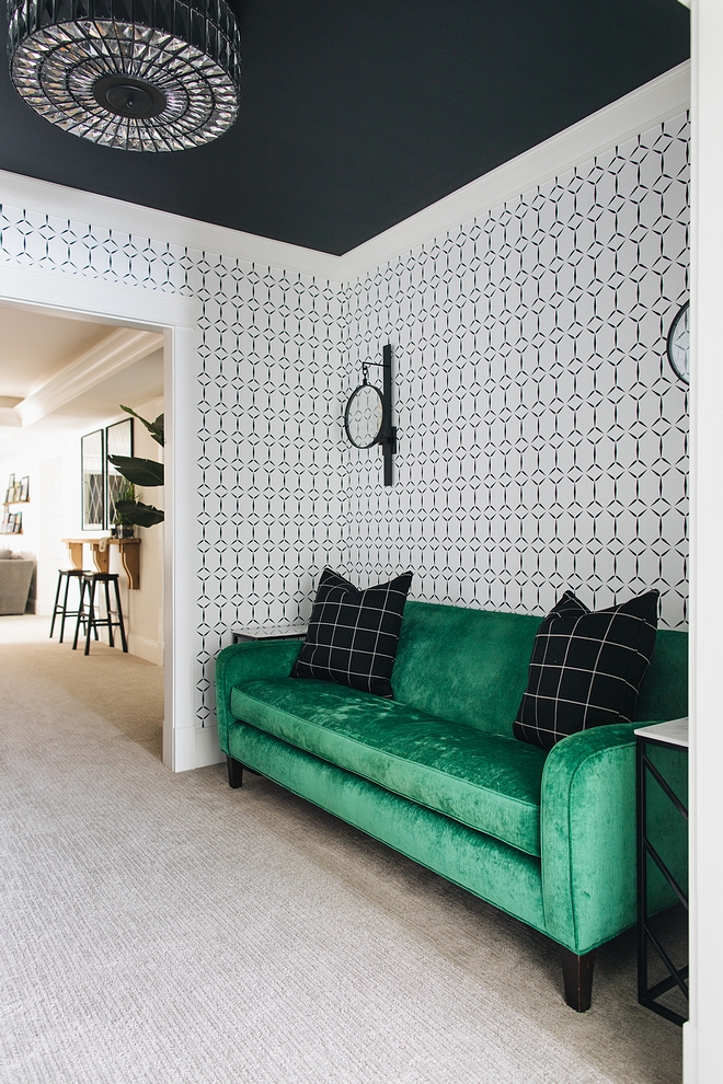
[[[157,332],[118,327],[13,407],[23,428],[163,346]]]

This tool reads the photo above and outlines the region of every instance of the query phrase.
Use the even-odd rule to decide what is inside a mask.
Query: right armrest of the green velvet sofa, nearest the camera
[[[635,921],[635,727],[558,742],[542,773],[540,841],[548,933],[582,956]]]

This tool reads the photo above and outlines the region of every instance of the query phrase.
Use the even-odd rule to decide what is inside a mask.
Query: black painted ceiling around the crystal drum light
[[[678,0],[233,5],[227,135],[171,154],[97,147],[33,113],[4,64],[0,169],[341,254],[689,56]]]

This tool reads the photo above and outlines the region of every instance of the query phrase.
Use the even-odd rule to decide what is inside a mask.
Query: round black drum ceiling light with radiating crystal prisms
[[[236,120],[239,28],[225,0],[8,0],[10,74],[51,124],[175,151]]]

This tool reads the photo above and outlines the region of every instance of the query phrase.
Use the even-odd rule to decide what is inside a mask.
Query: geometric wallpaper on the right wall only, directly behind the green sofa
[[[547,612],[688,596],[688,297],[679,116],[344,290],[346,389],[392,344],[395,484],[344,446],[346,570],[428,601]]]

